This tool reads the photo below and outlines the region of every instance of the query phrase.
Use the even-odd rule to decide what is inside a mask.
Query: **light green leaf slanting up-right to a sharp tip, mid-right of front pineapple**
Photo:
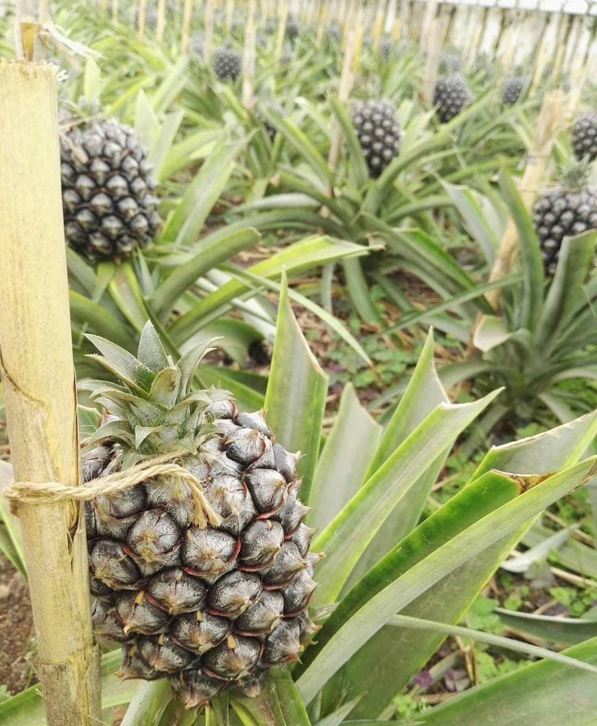
[[[359,489],[313,542],[325,551],[319,563],[316,604],[332,603],[387,515],[398,505],[430,461],[482,412],[499,391],[470,404],[440,404]]]

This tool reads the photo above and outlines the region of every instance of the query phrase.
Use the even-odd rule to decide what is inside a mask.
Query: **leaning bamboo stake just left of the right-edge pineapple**
[[[545,176],[545,168],[547,168],[549,155],[551,154],[553,136],[559,126],[563,109],[564,94],[561,91],[552,91],[545,95],[537,125],[535,126],[535,134],[532,138],[527,166],[524,167],[524,174],[522,174],[522,179],[519,184],[520,196],[527,209],[530,208],[535,200],[540,184],[543,181],[543,176]],[[503,232],[493,268],[491,269],[490,282],[499,280],[509,272],[517,251],[518,233],[516,232],[514,222],[509,219],[508,224],[506,224],[506,229]],[[485,297],[493,309],[498,308],[500,299],[499,288],[490,290]]]

